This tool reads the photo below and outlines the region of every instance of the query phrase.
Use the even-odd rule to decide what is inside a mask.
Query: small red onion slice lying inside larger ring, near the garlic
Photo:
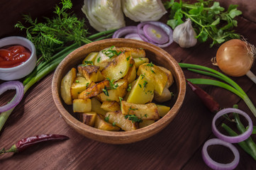
[[[151,40],[157,44],[165,44],[169,41],[167,33],[165,33],[165,30],[162,30],[162,28],[159,26],[148,23],[143,26],[143,31],[148,40]]]

